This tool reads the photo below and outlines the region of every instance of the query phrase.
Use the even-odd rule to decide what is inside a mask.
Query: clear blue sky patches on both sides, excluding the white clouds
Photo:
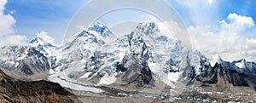
[[[69,20],[72,19],[73,14],[81,8],[88,0],[9,0],[5,5],[5,13],[14,11],[12,14],[16,20],[15,31],[19,34],[26,35],[28,39],[35,37],[40,31],[47,31],[50,36],[54,37],[57,43],[60,43],[63,39],[60,37],[64,35],[65,29]],[[183,4],[178,3],[176,0],[169,0],[168,3],[177,10],[185,21],[186,26],[196,25],[191,18],[189,18],[188,8]],[[253,5],[256,1],[252,0],[229,0],[220,1],[218,3],[218,9],[213,9],[213,12],[217,12],[216,15],[209,15],[208,10],[212,10],[211,5],[206,7],[196,7],[196,10],[201,10],[201,14],[205,14],[205,18],[210,21],[204,21],[203,23],[218,24],[218,20],[226,20],[226,17],[230,13],[241,14],[244,16],[250,16],[253,20],[256,19],[256,8]],[[196,11],[195,11],[196,12]],[[253,37],[250,35],[250,37]]]

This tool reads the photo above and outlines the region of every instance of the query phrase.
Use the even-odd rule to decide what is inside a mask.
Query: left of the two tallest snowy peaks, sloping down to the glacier
[[[99,58],[107,58],[109,54],[100,52],[99,49],[107,49],[106,43],[100,38],[108,37],[111,33],[106,26],[97,25],[99,26],[90,27],[90,31],[81,31],[78,35],[74,35],[55,50],[56,65],[49,72],[52,74],[49,80],[87,84],[87,81],[79,82],[79,80],[101,69],[100,66],[104,62],[101,62],[103,60],[100,61]]]

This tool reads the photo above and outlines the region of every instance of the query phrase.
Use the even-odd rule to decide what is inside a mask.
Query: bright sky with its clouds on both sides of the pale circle
[[[88,0],[2,0],[0,31],[9,38],[29,41],[44,32],[63,40],[67,25]],[[219,54],[224,60],[256,56],[256,1],[253,0],[166,0],[184,21],[194,49],[204,54]],[[99,5],[106,5],[101,4]],[[154,4],[153,4],[154,5]],[[2,7],[3,11],[1,11]],[[101,6],[99,6],[101,7]],[[164,9],[163,12],[168,12]],[[86,17],[84,17],[86,19]],[[7,31],[8,30],[8,31]],[[1,37],[2,36],[2,37]],[[0,40],[7,38],[0,33]],[[2,42],[3,43],[3,42]],[[0,44],[2,44],[0,43]],[[4,44],[4,43],[3,43]],[[228,55],[228,56],[227,56]],[[255,60],[256,61],[256,60]]]

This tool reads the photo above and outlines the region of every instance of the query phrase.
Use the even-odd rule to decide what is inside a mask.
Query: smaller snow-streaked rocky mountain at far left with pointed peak
[[[55,45],[41,37],[35,37],[22,46],[4,46],[0,50],[0,67],[13,77],[41,79],[48,76],[49,69],[55,62],[55,49]]]

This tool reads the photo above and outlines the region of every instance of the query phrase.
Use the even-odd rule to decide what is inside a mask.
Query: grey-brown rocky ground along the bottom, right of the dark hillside
[[[232,87],[227,91],[218,91],[212,87],[188,86],[182,94],[170,98],[170,89],[163,89],[158,97],[147,97],[143,94],[118,95],[79,93],[79,100],[84,103],[253,103],[256,102],[256,92],[250,87]],[[120,91],[119,91],[120,92]],[[76,94],[76,93],[74,93]],[[111,96],[109,96],[111,95]]]

